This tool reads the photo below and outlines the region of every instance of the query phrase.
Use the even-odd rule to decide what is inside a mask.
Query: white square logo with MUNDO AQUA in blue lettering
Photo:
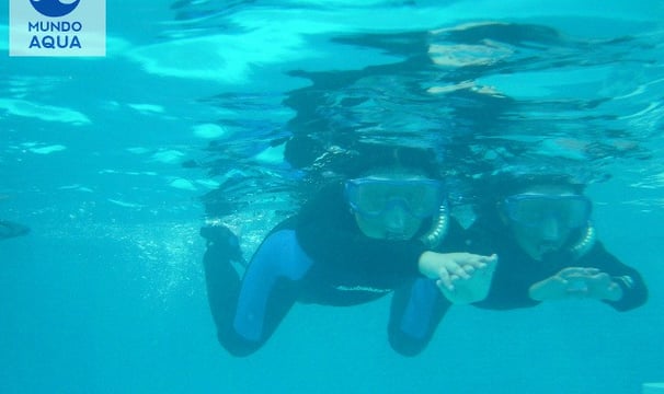
[[[10,0],[10,56],[105,56],[105,0]]]

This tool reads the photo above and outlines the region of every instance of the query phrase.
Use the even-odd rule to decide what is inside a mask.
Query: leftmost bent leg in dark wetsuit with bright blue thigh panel
[[[289,229],[265,239],[241,281],[230,259],[228,251],[208,247],[205,255],[208,301],[219,343],[233,356],[241,357],[257,350],[272,336],[298,299],[299,281],[311,260],[299,247],[295,231]]]

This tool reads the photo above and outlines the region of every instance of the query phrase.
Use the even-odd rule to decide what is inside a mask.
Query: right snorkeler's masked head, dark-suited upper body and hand
[[[583,185],[566,176],[514,176],[493,182],[491,199],[469,230],[471,251],[501,259],[489,309],[527,308],[542,301],[594,299],[618,311],[648,300],[641,275],[608,253],[591,222]]]

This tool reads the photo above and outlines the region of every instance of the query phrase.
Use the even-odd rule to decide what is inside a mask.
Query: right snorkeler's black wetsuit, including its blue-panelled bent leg
[[[617,311],[629,311],[646,302],[648,288],[641,275],[608,253],[600,242],[595,242],[593,247],[581,256],[575,256],[565,248],[563,252],[545,256],[542,262],[537,262],[516,244],[507,228],[493,225],[497,220],[500,219],[495,217],[490,221],[491,224],[477,222],[468,230],[461,230],[455,221],[450,221],[454,225],[449,229],[442,246],[436,248],[436,252],[440,253],[461,251],[480,255],[497,254],[499,263],[489,294],[484,300],[473,303],[474,306],[490,310],[536,306],[540,301],[529,297],[530,286],[556,275],[565,267],[598,268],[610,275],[622,288],[622,298],[619,301],[603,300],[602,302]],[[437,289],[432,288],[431,280],[419,279],[411,286],[410,290],[400,289],[394,292],[392,305],[400,306],[396,311],[393,308],[392,314],[401,316],[402,321],[408,321],[409,315],[404,311],[417,311],[416,314],[411,315],[411,318],[414,317],[417,323],[411,326],[426,332],[421,335],[407,335],[404,331],[391,331],[390,334],[391,338],[399,339],[397,344],[400,348],[415,355],[428,343],[451,303],[440,297]],[[414,296],[417,293],[427,296]],[[404,309],[405,304],[410,306]]]

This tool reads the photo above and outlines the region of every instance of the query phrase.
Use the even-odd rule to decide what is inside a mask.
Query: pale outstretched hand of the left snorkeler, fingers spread
[[[496,262],[496,255],[425,252],[420,258],[420,271],[435,279],[450,302],[470,303],[486,297]]]

